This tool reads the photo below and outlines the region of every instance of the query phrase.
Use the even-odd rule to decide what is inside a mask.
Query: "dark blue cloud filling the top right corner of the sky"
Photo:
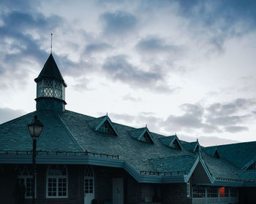
[[[256,1],[189,1],[175,0],[178,3],[180,13],[187,17],[194,17],[197,20],[203,21],[206,26],[211,26],[219,20],[223,20],[225,25],[222,29],[227,29],[238,20],[252,25],[256,23]],[[225,26],[227,26],[225,28]],[[249,26],[249,25],[247,25]],[[255,25],[253,25],[255,26]]]

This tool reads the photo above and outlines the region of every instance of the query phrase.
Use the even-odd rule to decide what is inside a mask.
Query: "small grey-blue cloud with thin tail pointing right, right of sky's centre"
[[[150,37],[141,39],[136,45],[136,48],[142,52],[179,52],[180,47],[166,44],[164,39]]]

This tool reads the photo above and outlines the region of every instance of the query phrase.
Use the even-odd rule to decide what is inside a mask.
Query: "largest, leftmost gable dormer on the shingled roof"
[[[97,132],[105,133],[112,136],[118,136],[117,130],[108,115],[92,119],[89,122],[90,127]]]

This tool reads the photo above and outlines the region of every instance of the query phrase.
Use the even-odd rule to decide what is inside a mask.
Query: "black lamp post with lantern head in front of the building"
[[[32,170],[33,170],[33,199],[32,203],[34,204],[34,195],[35,195],[35,173],[36,173],[36,153],[37,153],[37,138],[39,138],[41,132],[42,132],[42,122],[39,121],[37,115],[34,116],[34,119],[31,121],[30,124],[28,124],[29,127],[29,133],[33,140],[33,156],[32,156]]]

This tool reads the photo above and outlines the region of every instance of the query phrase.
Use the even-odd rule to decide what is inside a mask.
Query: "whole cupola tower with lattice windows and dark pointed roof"
[[[53,58],[52,53],[45,62],[39,76],[34,79],[37,83],[37,111],[55,110],[64,111],[65,105],[65,87],[61,72]]]

